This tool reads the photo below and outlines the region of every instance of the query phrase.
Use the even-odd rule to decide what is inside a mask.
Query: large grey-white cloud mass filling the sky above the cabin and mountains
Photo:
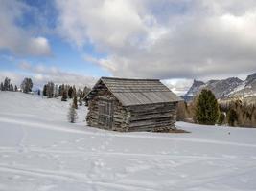
[[[256,71],[254,0],[57,0],[57,7],[62,35],[107,53],[91,60],[115,76],[208,79]]]

